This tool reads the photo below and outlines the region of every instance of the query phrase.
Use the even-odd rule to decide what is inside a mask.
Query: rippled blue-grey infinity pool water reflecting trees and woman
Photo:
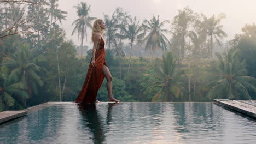
[[[58,104],[0,125],[0,143],[255,143],[256,121],[213,103]]]

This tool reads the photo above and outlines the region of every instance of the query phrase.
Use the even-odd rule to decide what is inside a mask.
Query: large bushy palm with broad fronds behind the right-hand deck
[[[216,56],[219,59],[218,79],[212,81],[208,96],[218,99],[252,99],[249,91],[256,92],[256,79],[246,76],[246,61],[238,61],[236,49],[230,49],[222,57],[219,53]]]

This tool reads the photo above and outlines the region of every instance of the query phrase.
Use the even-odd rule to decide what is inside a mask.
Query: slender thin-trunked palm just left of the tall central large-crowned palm
[[[142,31],[142,27],[139,26],[139,21],[137,21],[136,17],[134,19],[130,19],[128,25],[121,25],[121,31],[123,31],[123,34],[120,35],[120,37],[123,37],[124,39],[129,39],[131,44],[131,50],[130,50],[130,57],[129,57],[129,67],[128,72],[130,71],[130,65],[131,65],[131,53],[132,53],[132,47],[133,43],[136,39],[141,38],[144,33],[139,34]]]

